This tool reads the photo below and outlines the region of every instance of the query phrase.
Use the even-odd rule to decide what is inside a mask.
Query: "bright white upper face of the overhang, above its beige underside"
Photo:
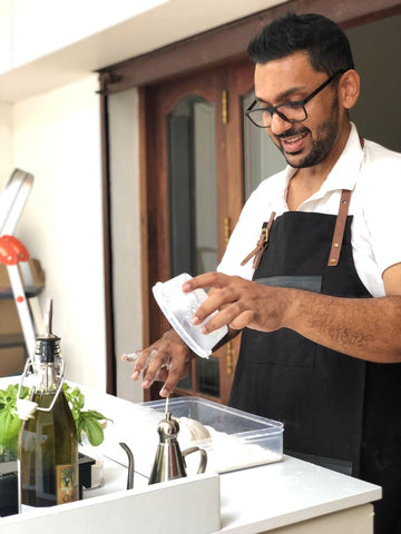
[[[165,2],[168,0],[1,0],[0,72],[66,48]]]

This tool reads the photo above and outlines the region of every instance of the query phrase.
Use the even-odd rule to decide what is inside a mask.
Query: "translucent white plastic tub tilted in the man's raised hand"
[[[182,286],[192,276],[184,273],[165,283],[158,281],[151,290],[162,312],[179,337],[195,354],[203,358],[208,358],[213,347],[226,335],[228,328],[223,326],[211,334],[203,334],[200,332],[202,326],[207,323],[216,312],[207,317],[200,325],[192,324],[190,317],[200,304],[206,300],[207,294],[203,289],[184,293]]]

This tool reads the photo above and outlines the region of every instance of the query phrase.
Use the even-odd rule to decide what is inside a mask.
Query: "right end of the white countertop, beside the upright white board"
[[[270,531],[380,497],[379,486],[284,456],[221,476],[222,532]]]

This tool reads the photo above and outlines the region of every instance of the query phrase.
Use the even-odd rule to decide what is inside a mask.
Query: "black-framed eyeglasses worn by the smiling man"
[[[302,122],[307,118],[305,105],[312,100],[319,92],[321,92],[334,78],[343,75],[346,70],[339,70],[331,76],[326,81],[317,87],[311,95],[303,100],[296,100],[294,102],[285,102],[280,106],[268,106],[264,108],[255,108],[257,100],[254,100],[245,111],[246,117],[258,128],[270,128],[272,126],[273,115],[277,113],[286,122]]]

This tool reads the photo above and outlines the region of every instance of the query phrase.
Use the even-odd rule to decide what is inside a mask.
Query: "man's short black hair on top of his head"
[[[247,48],[255,63],[306,51],[316,71],[332,76],[354,68],[350,42],[332,20],[315,13],[286,13],[265,26]]]

